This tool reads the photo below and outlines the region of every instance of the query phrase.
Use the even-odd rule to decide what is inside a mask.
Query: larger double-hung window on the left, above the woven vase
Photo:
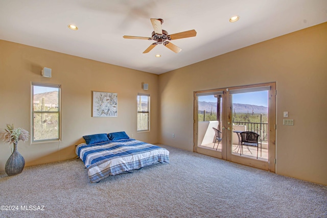
[[[60,139],[60,85],[32,83],[32,142]]]

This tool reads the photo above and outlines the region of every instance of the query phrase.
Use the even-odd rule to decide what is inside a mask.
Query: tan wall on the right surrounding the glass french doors
[[[267,82],[277,89],[276,173],[327,184],[327,23],[159,75],[159,142],[193,151],[194,91]]]

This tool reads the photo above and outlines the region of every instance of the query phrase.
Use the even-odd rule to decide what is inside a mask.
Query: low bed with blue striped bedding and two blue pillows
[[[125,132],[83,136],[76,147],[77,156],[88,169],[91,183],[157,162],[169,163],[169,151],[129,138]]]

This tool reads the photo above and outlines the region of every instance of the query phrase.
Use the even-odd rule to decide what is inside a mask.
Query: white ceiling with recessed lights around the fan
[[[150,18],[197,36],[172,40],[180,53],[159,44],[143,54],[154,41],[123,35],[151,37]],[[153,74],[326,21],[327,0],[0,0],[0,39]]]

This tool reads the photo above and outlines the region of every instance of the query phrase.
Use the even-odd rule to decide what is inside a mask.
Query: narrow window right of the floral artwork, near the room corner
[[[137,131],[150,130],[150,95],[137,94]]]

